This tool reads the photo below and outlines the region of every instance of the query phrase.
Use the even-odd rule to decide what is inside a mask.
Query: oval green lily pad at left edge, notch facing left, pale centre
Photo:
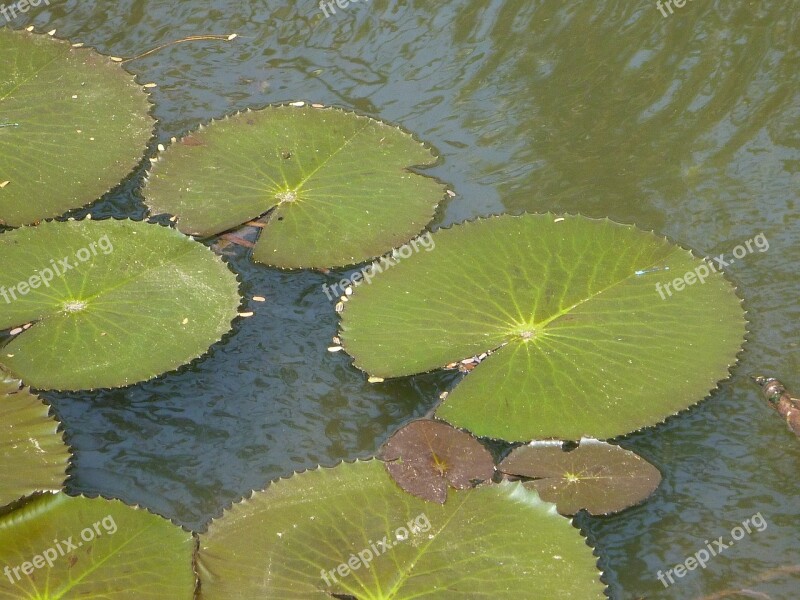
[[[0,365],[39,389],[119,387],[176,369],[230,330],[240,303],[219,257],[144,222],[17,229],[0,235],[0,263],[0,329],[33,323],[0,349]]]

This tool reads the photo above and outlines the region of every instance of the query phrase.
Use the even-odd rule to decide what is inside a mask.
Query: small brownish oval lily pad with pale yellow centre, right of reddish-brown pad
[[[533,479],[525,487],[554,502],[562,515],[581,509],[593,515],[619,512],[644,501],[661,483],[658,469],[635,452],[592,439],[570,451],[560,444],[521,446],[497,470]]]

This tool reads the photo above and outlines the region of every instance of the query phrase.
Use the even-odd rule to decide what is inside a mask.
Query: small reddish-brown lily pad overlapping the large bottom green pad
[[[395,432],[381,458],[401,488],[439,504],[447,500],[448,487],[465,490],[494,475],[494,459],[478,440],[430,419],[412,421]]]

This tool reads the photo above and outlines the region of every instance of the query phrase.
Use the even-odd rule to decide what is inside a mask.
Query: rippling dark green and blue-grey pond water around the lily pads
[[[579,212],[703,255],[764,233],[768,251],[727,269],[751,331],[731,379],[693,410],[623,440],[664,475],[646,504],[578,521],[613,598],[746,588],[762,595],[715,597],[790,600],[800,597],[800,571],[774,570],[800,565],[800,443],[747,374],[774,374],[800,391],[800,1],[674,10],[663,17],[649,0],[371,0],[326,19],[312,0],[52,0],[13,25],[56,29],[116,56],[236,32],[128,64],[142,83],[158,83],[155,143],[273,102],[357,109],[438,148],[442,162],[430,172],[458,196],[437,226],[494,212]],[[92,215],[143,216],[142,175]],[[75,450],[71,492],[119,497],[202,529],[271,479],[373,454],[452,385],[442,374],[369,385],[345,355],[326,352],[337,321],[321,285],[336,273],[282,274],[241,252],[230,262],[243,293],[268,302],[254,303],[255,316],[203,360],[130,389],[46,395]],[[766,529],[705,570],[668,589],[657,580],[759,512]]]

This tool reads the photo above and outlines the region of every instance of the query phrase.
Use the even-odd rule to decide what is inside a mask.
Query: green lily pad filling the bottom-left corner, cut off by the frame
[[[0,517],[0,598],[190,600],[194,547],[118,500],[46,494]]]

